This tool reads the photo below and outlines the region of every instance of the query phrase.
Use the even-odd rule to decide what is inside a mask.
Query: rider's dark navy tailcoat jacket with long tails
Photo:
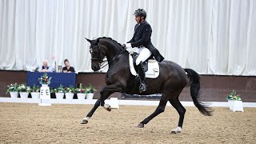
[[[152,55],[158,62],[162,62],[164,59],[159,51],[153,46],[151,42],[152,29],[148,22],[143,22],[139,26],[138,24],[134,27],[134,36],[127,42],[130,43],[132,47],[145,46],[152,52]]]

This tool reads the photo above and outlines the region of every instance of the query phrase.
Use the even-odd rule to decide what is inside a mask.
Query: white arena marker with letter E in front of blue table
[[[49,86],[41,86],[40,88],[40,103],[38,103],[39,106],[51,106],[51,103],[46,102],[47,100],[50,100],[50,88]]]

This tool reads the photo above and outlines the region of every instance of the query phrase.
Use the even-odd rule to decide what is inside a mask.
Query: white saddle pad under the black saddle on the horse
[[[130,73],[134,76],[137,76],[134,69],[134,62],[132,56],[129,54],[129,63],[130,63]],[[148,61],[148,70],[145,73],[146,78],[158,78],[159,76],[159,64],[156,60],[150,59]]]

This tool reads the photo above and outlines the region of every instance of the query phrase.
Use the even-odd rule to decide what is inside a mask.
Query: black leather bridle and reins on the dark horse
[[[107,62],[107,60],[104,60],[106,58],[106,54],[105,54],[104,50],[102,50],[102,47],[99,43],[97,46],[90,48],[90,54],[92,55],[93,50],[97,49],[97,48],[98,48],[98,58],[90,58],[90,60],[98,61],[98,65],[101,67],[101,69],[103,67],[107,66],[108,64],[110,64],[111,62],[113,62],[115,58],[119,58],[122,55],[122,52],[126,50],[126,46],[122,45],[123,50],[119,54],[115,55],[113,58],[110,58],[109,62]],[[102,57],[101,57],[101,54],[103,55]],[[102,65],[104,65],[104,66],[102,66]]]

